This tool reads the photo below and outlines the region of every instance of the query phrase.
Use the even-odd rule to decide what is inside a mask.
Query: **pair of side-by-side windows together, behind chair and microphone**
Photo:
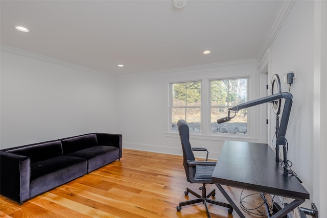
[[[248,109],[231,111],[230,117],[235,117],[217,123],[228,108],[247,102],[247,86],[247,77],[170,83],[170,130],[178,131],[177,122],[184,119],[193,133],[248,135]]]

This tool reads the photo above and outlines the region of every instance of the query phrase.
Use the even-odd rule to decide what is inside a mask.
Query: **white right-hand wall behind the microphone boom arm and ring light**
[[[289,85],[283,83],[284,74],[295,68],[296,79],[290,87],[293,106],[286,133],[288,159],[293,162],[293,171],[303,181],[313,199],[313,181],[319,179],[315,177],[316,168],[313,165],[314,1],[297,1],[294,4],[270,50],[270,78],[273,74],[279,75],[282,91],[289,91]],[[272,130],[274,125],[271,124]]]

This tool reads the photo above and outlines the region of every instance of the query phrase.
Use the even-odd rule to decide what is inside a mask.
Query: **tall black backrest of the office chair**
[[[188,124],[183,119],[178,120],[177,127],[183,149],[183,165],[185,168],[186,179],[190,182],[188,160],[195,160],[190,143],[190,130]]]

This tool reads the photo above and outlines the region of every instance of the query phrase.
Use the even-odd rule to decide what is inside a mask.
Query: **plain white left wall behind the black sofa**
[[[1,148],[116,132],[115,79],[1,47]]]

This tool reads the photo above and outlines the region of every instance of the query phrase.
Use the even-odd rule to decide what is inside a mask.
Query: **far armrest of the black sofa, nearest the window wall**
[[[123,136],[121,134],[96,133],[99,146],[112,146],[119,149],[119,157],[123,154]]]

